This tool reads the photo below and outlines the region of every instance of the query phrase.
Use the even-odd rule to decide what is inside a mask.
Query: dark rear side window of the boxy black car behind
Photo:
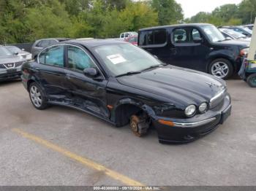
[[[165,42],[167,42],[166,30],[141,31],[139,40],[140,45],[165,44]]]

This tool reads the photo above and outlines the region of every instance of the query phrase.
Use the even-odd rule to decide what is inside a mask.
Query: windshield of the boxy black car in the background
[[[201,26],[211,42],[225,41],[225,36],[215,26]]]

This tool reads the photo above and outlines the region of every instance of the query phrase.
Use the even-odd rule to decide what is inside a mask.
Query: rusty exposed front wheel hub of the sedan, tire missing
[[[140,117],[137,115],[132,115],[129,122],[129,127],[135,136],[145,136],[148,132],[149,122],[146,117]]]

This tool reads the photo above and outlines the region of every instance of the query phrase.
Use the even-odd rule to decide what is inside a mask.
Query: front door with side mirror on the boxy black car
[[[173,65],[206,71],[206,58],[211,50],[200,29],[195,27],[173,28],[170,38]],[[201,42],[197,42],[198,39],[201,39]]]

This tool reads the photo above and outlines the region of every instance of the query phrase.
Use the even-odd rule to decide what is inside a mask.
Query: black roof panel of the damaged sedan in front
[[[89,40],[74,39],[74,40],[69,40],[67,42],[80,44],[80,45],[83,45],[84,47],[97,47],[97,46],[110,45],[110,44],[127,44],[127,42],[113,40],[113,39],[89,39]]]

